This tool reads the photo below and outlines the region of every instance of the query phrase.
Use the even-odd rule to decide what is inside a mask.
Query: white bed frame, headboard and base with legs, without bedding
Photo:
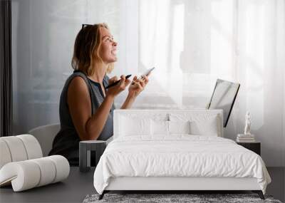
[[[114,137],[120,132],[120,116],[125,113],[143,114],[152,116],[163,113],[207,113],[209,115],[217,114],[221,118],[219,136],[223,137],[222,110],[115,110],[114,114]],[[203,191],[205,193],[225,192],[225,191],[252,191],[259,194],[264,199],[256,178],[235,178],[235,177],[112,177],[108,187],[105,188],[99,199],[103,199],[104,194],[108,192],[156,192],[163,193],[188,193]]]

